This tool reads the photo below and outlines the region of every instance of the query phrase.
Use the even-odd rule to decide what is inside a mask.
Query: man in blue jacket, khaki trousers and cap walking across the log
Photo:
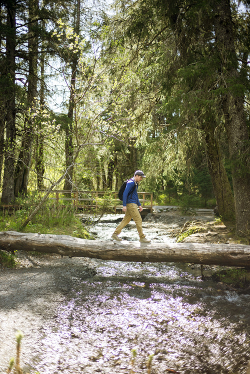
[[[111,238],[114,240],[121,240],[117,235],[119,235],[122,228],[130,222],[131,218],[133,218],[139,234],[139,241],[141,243],[150,243],[151,241],[146,239],[145,235],[142,232],[142,219],[140,213],[138,212],[138,207],[139,211],[142,211],[142,206],[139,202],[137,194],[138,184],[142,180],[142,178],[145,178],[143,171],[136,170],[133,178],[129,179],[126,183],[126,188],[122,196],[122,211],[125,212],[125,215],[111,236]]]

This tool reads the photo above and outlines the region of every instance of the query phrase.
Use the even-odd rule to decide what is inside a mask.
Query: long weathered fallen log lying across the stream
[[[250,267],[250,245],[210,243],[140,243],[87,240],[69,235],[0,232],[0,249],[58,253],[133,262],[190,262]]]

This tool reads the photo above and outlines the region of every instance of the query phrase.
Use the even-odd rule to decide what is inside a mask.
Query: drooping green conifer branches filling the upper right
[[[222,51],[221,59],[220,47],[214,42],[214,4],[207,1],[187,1],[185,4],[183,11],[183,4],[178,1],[160,1],[155,6],[149,0],[145,11],[143,1],[131,3],[129,7],[117,1],[110,16],[109,34],[105,28],[113,53],[120,55],[117,46],[120,44],[129,50],[130,89],[133,93],[127,103],[134,108],[136,146],[143,154],[140,167],[148,176],[145,185],[158,193],[160,203],[166,203],[167,199],[159,192],[165,189],[165,182],[171,180],[176,186],[182,184],[184,188],[179,194],[183,196],[184,209],[190,205],[209,206],[213,188],[203,165],[207,161],[209,166],[215,164],[217,155],[221,168],[224,159],[227,161],[228,142],[223,132],[226,123],[221,99],[228,94],[243,96],[247,91],[245,47],[248,34],[241,34],[239,30],[245,30],[249,22],[248,13],[230,3],[237,57],[241,61],[237,65],[236,55],[230,58],[228,50]],[[122,66],[127,66],[127,56]],[[237,74],[232,76],[231,68],[240,73],[245,70],[242,74],[245,80]],[[220,152],[209,152],[210,134],[215,136],[218,150],[221,141],[227,142],[221,156]],[[237,170],[242,173],[247,172],[246,165],[249,164],[247,150],[246,146],[239,152],[242,159],[236,153],[236,157],[233,156]],[[212,173],[212,168],[209,170],[215,194],[219,196],[226,180],[222,180],[224,186],[221,186],[219,176]],[[170,203],[170,193],[168,197]],[[226,205],[229,204],[226,202]]]

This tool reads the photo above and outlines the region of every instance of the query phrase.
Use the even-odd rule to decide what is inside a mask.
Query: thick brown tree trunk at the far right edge
[[[236,92],[238,83],[237,58],[233,39],[232,18],[229,0],[215,1],[215,43],[220,59],[218,68],[226,93],[222,97],[222,108],[232,162],[232,181],[235,202],[236,231],[248,235],[250,232],[250,170],[249,131],[243,107],[243,93]]]

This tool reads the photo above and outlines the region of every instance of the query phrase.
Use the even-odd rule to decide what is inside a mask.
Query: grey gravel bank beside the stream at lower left
[[[18,257],[22,268],[0,271],[0,373],[15,355],[17,330],[24,333],[22,361],[29,361],[31,352],[34,364],[36,355],[39,361],[45,324],[54,320],[58,305],[70,299],[75,282],[95,273],[87,258],[37,257],[25,252]]]

